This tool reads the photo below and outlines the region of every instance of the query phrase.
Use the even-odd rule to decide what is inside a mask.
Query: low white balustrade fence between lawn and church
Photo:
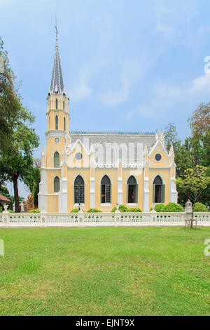
[[[0,227],[185,225],[186,212],[0,213]],[[197,225],[210,226],[210,212],[195,212]]]

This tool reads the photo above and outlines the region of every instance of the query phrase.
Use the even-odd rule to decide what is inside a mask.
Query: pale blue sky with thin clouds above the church
[[[160,131],[173,121],[183,139],[190,114],[209,101],[209,12],[204,0],[0,0],[0,34],[36,115],[34,156],[45,144],[55,13],[71,130]]]

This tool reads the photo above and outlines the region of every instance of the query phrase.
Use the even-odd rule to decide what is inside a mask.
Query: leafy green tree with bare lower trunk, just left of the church
[[[0,173],[6,176],[6,180],[13,181],[15,212],[20,212],[18,179],[27,183],[34,168],[32,154],[38,147],[39,138],[34,128],[27,126],[33,122],[34,116],[22,107],[22,117],[16,119],[12,141],[0,155]]]

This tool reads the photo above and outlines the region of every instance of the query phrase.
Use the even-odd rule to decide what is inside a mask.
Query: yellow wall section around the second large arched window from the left
[[[111,180],[111,204],[101,204],[101,181],[103,176]],[[94,169],[95,208],[103,212],[110,212],[118,202],[118,169]]]

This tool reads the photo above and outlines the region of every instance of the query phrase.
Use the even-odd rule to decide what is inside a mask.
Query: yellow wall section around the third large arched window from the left
[[[138,199],[137,204],[127,204],[127,180],[130,176],[134,176],[137,180],[138,184]],[[143,209],[143,170],[142,169],[123,169],[123,204],[127,205],[127,207],[139,207]]]

